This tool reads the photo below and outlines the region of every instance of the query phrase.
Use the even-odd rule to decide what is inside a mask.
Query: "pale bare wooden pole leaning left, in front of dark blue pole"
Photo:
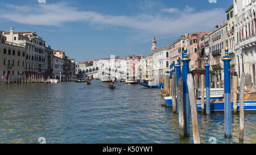
[[[195,87],[194,87],[194,82],[193,82],[193,76],[190,73],[187,76],[187,83],[188,83],[188,92],[189,92],[189,100],[190,100],[190,108],[191,108],[193,141],[194,141],[195,144],[200,144],[200,135],[199,135],[199,126],[198,126],[198,119],[197,119],[197,108],[196,108]]]

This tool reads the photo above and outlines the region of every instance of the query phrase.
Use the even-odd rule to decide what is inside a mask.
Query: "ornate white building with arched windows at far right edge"
[[[234,53],[236,58],[236,71],[238,81],[242,73],[248,73],[254,84],[256,62],[256,2],[253,0],[234,0]]]

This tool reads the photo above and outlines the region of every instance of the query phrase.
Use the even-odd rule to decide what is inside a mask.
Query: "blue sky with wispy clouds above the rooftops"
[[[213,31],[233,0],[0,0],[0,30],[36,31],[76,61],[150,55],[185,32]]]

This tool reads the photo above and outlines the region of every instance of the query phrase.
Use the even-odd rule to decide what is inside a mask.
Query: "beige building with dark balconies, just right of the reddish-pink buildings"
[[[209,34],[210,69],[214,70],[218,81],[224,80],[224,64],[221,58],[225,56],[228,47],[228,24],[216,25],[216,30]]]

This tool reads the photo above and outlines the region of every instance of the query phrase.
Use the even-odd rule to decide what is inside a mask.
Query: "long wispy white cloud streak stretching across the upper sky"
[[[180,35],[184,32],[208,31],[209,28],[213,28],[225,18],[224,9],[193,12],[195,9],[189,6],[185,6],[184,10],[186,11],[183,11],[179,16],[162,14],[104,15],[94,11],[80,11],[64,2],[55,4],[43,3],[30,7],[6,5],[6,8],[6,10],[0,11],[0,18],[22,24],[59,27],[69,22],[87,22],[101,27],[128,27],[143,33],[154,32],[155,35],[157,33]],[[178,10],[171,8],[165,9],[165,11],[176,12]]]

